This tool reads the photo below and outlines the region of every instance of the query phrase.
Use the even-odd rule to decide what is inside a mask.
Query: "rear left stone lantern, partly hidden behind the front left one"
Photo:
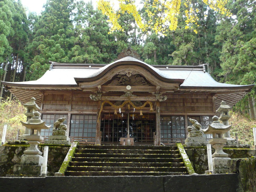
[[[35,98],[34,97],[32,97],[30,99],[30,102],[27,102],[23,106],[27,109],[26,113],[24,113],[27,116],[27,121],[34,116],[35,111],[40,110],[38,105],[35,103]],[[25,134],[20,136],[20,140],[25,140],[26,135],[30,135],[30,131],[31,130],[29,128],[26,128],[25,129]]]

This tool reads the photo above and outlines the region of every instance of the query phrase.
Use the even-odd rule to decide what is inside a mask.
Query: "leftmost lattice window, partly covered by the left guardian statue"
[[[45,121],[45,124],[52,125],[49,129],[41,130],[41,136],[45,137],[45,140],[48,140],[48,137],[52,135],[53,123],[64,116],[66,119],[63,124],[67,125],[67,114],[42,114],[41,119]]]

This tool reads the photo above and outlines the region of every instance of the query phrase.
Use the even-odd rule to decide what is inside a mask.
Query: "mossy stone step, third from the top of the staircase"
[[[89,154],[75,153],[74,157],[117,157],[117,158],[179,158],[180,154]]]

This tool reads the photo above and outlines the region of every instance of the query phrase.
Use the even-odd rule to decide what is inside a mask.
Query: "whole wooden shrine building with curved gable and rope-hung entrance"
[[[127,132],[134,144],[183,142],[188,118],[207,128],[222,100],[233,106],[254,86],[218,83],[204,66],[149,65],[133,49],[111,64],[51,62],[36,81],[3,84],[23,104],[35,97],[46,125],[66,116],[71,141],[97,145]]]

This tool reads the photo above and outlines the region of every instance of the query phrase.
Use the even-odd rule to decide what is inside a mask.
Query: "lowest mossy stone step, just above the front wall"
[[[66,176],[163,176],[189,175],[186,172],[65,172]]]

